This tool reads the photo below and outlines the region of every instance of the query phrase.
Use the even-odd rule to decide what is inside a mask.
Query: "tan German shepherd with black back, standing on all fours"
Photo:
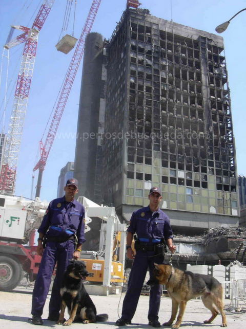
[[[173,329],[179,328],[187,302],[190,299],[201,296],[204,306],[212,312],[212,317],[203,322],[211,323],[220,312],[222,317],[221,327],[227,326],[226,315],[223,312],[223,288],[221,283],[215,278],[190,271],[181,271],[171,265],[155,264],[153,275],[147,284],[150,286],[166,284],[168,295],[172,299],[171,318],[168,322],[163,323],[163,325],[172,325],[179,306],[177,321],[172,326]],[[215,306],[217,306],[219,312]]]

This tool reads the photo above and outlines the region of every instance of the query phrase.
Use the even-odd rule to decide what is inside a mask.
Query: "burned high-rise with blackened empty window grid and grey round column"
[[[86,41],[75,177],[121,219],[152,186],[176,231],[237,226],[228,73],[221,36],[127,9]]]

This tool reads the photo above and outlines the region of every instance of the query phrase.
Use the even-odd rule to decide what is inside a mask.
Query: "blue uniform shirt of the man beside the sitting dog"
[[[66,202],[65,196],[50,202],[38,229],[38,233],[43,233],[47,236],[70,236],[76,233],[78,243],[84,243],[86,241],[84,232],[84,206],[75,199],[70,203]]]

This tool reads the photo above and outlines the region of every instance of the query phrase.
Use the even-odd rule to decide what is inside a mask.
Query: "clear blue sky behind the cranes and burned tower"
[[[0,0],[0,45],[4,45],[10,30],[10,25],[26,26],[36,8],[40,7],[40,0],[27,0],[30,4],[24,15],[17,16],[26,0]],[[193,28],[215,33],[215,27],[229,19],[239,10],[246,8],[246,1],[236,0],[172,0],[172,17],[170,0],[141,0],[141,8],[148,8],[152,15],[171,20],[175,23],[188,25]],[[66,0],[56,0],[51,12],[39,33],[36,61],[33,71],[32,84],[27,106],[25,125],[23,130],[22,144],[20,146],[16,195],[30,197],[32,184],[32,169],[35,166],[36,155],[39,148],[39,140],[45,130],[52,108],[55,104],[59,89],[62,85],[66,71],[73,56],[73,50],[65,55],[58,52],[55,45],[58,41],[61,26],[63,24]],[[81,30],[89,13],[92,0],[77,0],[74,36],[79,39]],[[26,8],[26,7],[25,7]],[[126,0],[102,0],[94,25],[93,32],[101,33],[105,38],[110,38],[116,22],[119,22],[122,12],[126,8]],[[25,10],[24,10],[25,11]],[[35,13],[36,14],[36,13]],[[16,18],[17,17],[17,18]],[[33,16],[31,23],[33,22]],[[14,22],[15,20],[15,22]],[[19,22],[18,22],[19,21]],[[68,33],[72,32],[72,23]],[[229,86],[232,99],[233,129],[236,140],[238,174],[246,176],[246,151],[245,138],[245,99],[246,93],[246,11],[240,13],[231,22],[223,36],[227,69],[229,72]],[[15,34],[17,35],[17,34]],[[10,49],[9,80],[17,77],[19,64],[14,72],[19,57],[22,55],[23,46]],[[1,50],[2,51],[2,50]],[[2,53],[1,53],[2,57]],[[43,174],[41,199],[51,200],[56,197],[57,182],[60,169],[68,161],[74,161],[76,129],[78,116],[78,102],[80,94],[80,81],[82,74],[82,62],[58,128],[58,133],[70,134],[69,138],[56,138],[51,149],[47,165]],[[4,98],[6,67],[3,64],[3,75],[0,90],[0,105]],[[13,92],[15,90],[13,84]],[[7,95],[9,98],[9,93]],[[6,108],[5,131],[8,130],[9,117],[13,104],[13,93]],[[0,110],[0,118],[3,114],[3,106]],[[2,123],[1,123],[2,130]],[[74,135],[73,135],[74,134]],[[244,137],[243,137],[244,136]],[[46,138],[46,135],[45,135]],[[45,141],[44,138],[44,141]],[[35,174],[36,185],[37,172]]]

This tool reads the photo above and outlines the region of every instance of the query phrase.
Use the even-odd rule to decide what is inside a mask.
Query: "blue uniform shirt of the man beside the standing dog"
[[[127,232],[137,233],[138,239],[149,245],[159,243],[162,237],[173,239],[169,217],[159,208],[152,212],[149,206],[133,212]]]

